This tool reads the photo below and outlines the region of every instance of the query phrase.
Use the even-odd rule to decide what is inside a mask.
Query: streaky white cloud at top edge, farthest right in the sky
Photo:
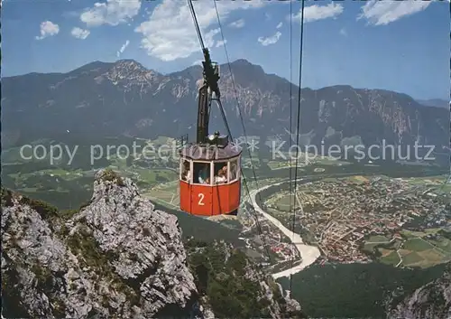
[[[376,2],[372,0],[362,6],[362,13],[358,15],[357,20],[364,18],[368,21],[368,24],[385,25],[403,16],[423,11],[430,4],[431,1],[407,0]]]

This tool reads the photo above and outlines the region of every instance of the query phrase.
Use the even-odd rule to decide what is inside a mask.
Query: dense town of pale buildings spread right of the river
[[[327,259],[338,262],[368,262],[362,248],[370,234],[392,238],[415,220],[419,228],[451,221],[444,203],[402,179],[307,183],[299,202],[297,222],[309,230]],[[289,222],[290,214],[285,216],[284,222]]]

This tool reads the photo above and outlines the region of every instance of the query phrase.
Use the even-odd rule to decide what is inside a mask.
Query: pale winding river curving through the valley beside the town
[[[298,181],[302,181],[303,179],[299,179]],[[258,205],[258,203],[255,200],[255,197],[257,193],[262,192],[272,186],[281,185],[282,183],[288,183],[290,181],[283,181],[281,183],[273,183],[271,185],[263,186],[259,188],[258,190],[255,190],[251,192],[251,201],[253,204],[253,208],[255,211],[260,212],[264,218],[267,220],[270,220],[274,226],[276,226],[281,232],[287,236],[291,242],[295,245],[296,249],[299,250],[300,257],[302,258],[302,261],[300,264],[296,265],[295,267],[291,267],[289,269],[283,270],[281,272],[272,274],[272,277],[275,279],[280,277],[289,277],[290,275],[294,275],[296,273],[299,273],[299,271],[303,270],[305,267],[310,266],[313,264],[321,255],[318,247],[316,246],[310,246],[303,243],[302,238],[299,236],[299,234],[287,229],[285,226],[282,225],[280,220],[277,220],[276,218],[272,217],[269,213],[262,210],[262,207]]]

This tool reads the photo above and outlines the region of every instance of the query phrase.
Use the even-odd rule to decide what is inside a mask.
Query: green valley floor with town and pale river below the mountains
[[[8,158],[14,158],[13,153],[9,152]],[[451,202],[451,185],[443,185],[443,176],[391,178],[375,174],[383,171],[377,165],[356,169],[354,164],[318,157],[299,165],[299,176],[312,181],[302,183],[293,197],[283,186],[288,184],[289,163],[271,160],[266,164],[267,169],[258,171],[258,183],[248,181],[250,194],[243,187],[238,217],[210,220],[241,231],[248,255],[272,267],[275,277],[290,273],[291,262],[299,271],[320,255],[335,262],[379,260],[395,267],[430,267],[451,259],[451,239],[438,230],[446,229],[451,220],[445,210],[446,201]],[[41,167],[40,163],[17,160],[2,165],[5,186],[66,209],[87,202],[97,171],[92,167]],[[22,169],[18,170],[19,166]],[[131,177],[152,202],[179,210],[177,161],[128,161],[112,156],[110,167]],[[362,174],[363,170],[368,174]],[[275,189],[278,185],[285,189]],[[294,229],[290,221],[293,204],[298,207]],[[260,211],[262,233],[256,230],[253,210]],[[414,222],[419,224],[410,225]],[[297,249],[291,244],[293,238]]]

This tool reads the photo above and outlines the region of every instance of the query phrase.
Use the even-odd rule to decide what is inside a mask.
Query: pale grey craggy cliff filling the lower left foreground
[[[223,296],[211,295],[215,289],[198,291],[202,264],[189,265],[177,218],[154,210],[131,180],[113,171],[97,173],[92,198],[79,211],[57,211],[2,189],[2,246],[7,318],[213,318],[221,305]],[[273,284],[244,265],[246,273],[260,274],[250,279],[260,286],[253,314],[299,313],[296,302],[271,295],[280,286],[264,289]]]

